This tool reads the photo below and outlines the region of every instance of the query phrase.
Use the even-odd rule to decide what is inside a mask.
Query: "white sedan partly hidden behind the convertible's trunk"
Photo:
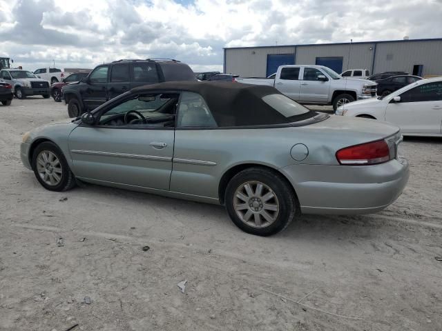
[[[407,136],[442,137],[442,77],[416,81],[386,97],[347,103],[335,114],[387,121]]]

